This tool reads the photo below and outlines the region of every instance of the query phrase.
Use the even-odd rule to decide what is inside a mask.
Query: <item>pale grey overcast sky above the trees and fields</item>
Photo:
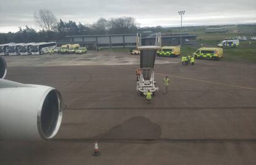
[[[49,9],[57,19],[83,24],[100,17],[134,17],[139,27],[177,27],[181,23],[178,11],[186,11],[182,23],[189,25],[224,25],[256,23],[255,0],[0,0],[0,33],[17,32],[19,27],[40,30],[33,13]]]

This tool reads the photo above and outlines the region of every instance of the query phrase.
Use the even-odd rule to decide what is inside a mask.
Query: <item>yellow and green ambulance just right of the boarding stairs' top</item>
[[[160,51],[156,53],[157,56],[177,57],[181,54],[179,46],[163,46]]]

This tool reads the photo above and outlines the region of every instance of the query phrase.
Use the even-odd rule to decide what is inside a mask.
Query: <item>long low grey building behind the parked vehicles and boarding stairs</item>
[[[142,45],[154,45],[156,33],[148,33],[142,37]],[[103,48],[130,48],[136,46],[137,34],[118,34],[118,35],[74,35],[66,36],[69,42],[78,43],[90,49]],[[195,40],[197,35],[182,34],[182,43]],[[163,33],[162,46],[177,46],[181,40],[180,34]],[[66,43],[58,43],[66,44]]]

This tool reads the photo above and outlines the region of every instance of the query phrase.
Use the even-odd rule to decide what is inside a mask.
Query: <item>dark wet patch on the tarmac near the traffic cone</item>
[[[126,122],[116,125],[107,133],[94,137],[94,139],[143,139],[157,140],[161,137],[161,127],[149,119],[137,116],[128,119]]]

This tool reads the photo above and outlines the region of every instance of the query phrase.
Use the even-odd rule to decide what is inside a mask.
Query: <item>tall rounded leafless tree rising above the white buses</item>
[[[34,19],[35,19],[35,22],[41,28],[43,28],[43,30],[46,30],[46,31],[53,31],[58,25],[58,20],[56,19],[53,12],[46,9],[41,9],[38,12],[35,11]]]

